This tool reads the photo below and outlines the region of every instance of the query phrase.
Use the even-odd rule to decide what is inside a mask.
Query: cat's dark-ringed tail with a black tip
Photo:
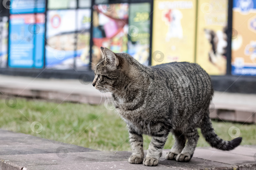
[[[241,144],[242,137],[235,138],[231,141],[226,141],[218,137],[212,128],[209,113],[206,114],[202,120],[201,133],[203,134],[206,142],[208,142],[211,147],[220,150],[232,150]]]

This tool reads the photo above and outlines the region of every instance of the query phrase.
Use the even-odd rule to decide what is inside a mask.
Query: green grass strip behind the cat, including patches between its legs
[[[8,107],[4,98],[0,99],[0,127],[3,129],[96,150],[131,150],[125,123],[114,110],[107,110],[104,105],[16,99],[14,108]],[[30,125],[34,121],[42,124],[40,133],[31,130]],[[225,140],[233,139],[228,134],[232,126],[240,129],[243,145],[256,144],[255,125],[213,121],[216,133]],[[209,146],[199,134],[197,146]],[[144,149],[147,149],[151,137],[144,135],[143,138]],[[174,138],[170,134],[165,149],[171,148],[173,143]]]

